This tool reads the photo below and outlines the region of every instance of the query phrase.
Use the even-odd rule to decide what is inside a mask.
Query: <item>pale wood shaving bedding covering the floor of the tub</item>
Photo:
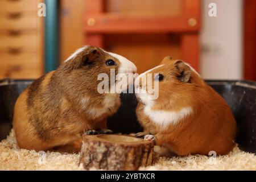
[[[14,131],[0,142],[0,170],[83,170],[79,167],[79,154],[36,152],[19,149]],[[217,158],[189,155],[160,157],[154,166],[140,170],[256,170],[256,156],[241,151],[237,146],[228,155]]]

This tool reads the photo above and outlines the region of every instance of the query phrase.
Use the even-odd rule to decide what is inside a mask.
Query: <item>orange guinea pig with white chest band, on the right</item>
[[[143,76],[152,78],[155,84],[143,82]],[[137,137],[155,140],[177,155],[208,155],[210,151],[224,155],[232,150],[236,137],[232,111],[191,66],[167,56],[135,82],[137,90],[146,90],[136,94],[137,118],[144,128]],[[152,99],[151,86],[156,83],[158,98]]]

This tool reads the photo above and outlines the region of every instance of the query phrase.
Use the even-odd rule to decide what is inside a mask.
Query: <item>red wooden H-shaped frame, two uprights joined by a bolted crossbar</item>
[[[179,15],[108,14],[103,0],[86,0],[86,44],[103,47],[103,34],[181,33],[181,58],[199,70],[200,0],[180,0]]]

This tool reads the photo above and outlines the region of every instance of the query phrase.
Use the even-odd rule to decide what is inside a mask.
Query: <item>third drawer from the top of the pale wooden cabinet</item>
[[[19,52],[24,51],[24,49],[33,51],[40,44],[39,36],[36,34],[20,36],[0,35],[0,40],[1,52],[11,52],[12,49],[19,49]]]

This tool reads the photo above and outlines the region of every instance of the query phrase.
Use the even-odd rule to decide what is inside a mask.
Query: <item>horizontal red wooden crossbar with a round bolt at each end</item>
[[[189,32],[199,31],[199,23],[189,25],[189,15],[184,16],[138,16],[117,14],[86,14],[85,21],[94,19],[95,24],[86,24],[86,32],[127,33],[127,32]],[[194,16],[192,16],[194,18]],[[196,22],[199,19],[195,18]]]

